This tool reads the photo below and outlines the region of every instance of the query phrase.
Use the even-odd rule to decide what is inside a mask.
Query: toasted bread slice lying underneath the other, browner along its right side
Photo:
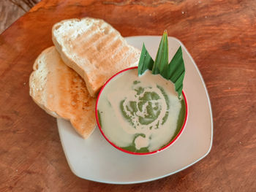
[[[96,99],[83,79],[63,63],[55,47],[44,50],[33,69],[29,87],[34,101],[53,117],[70,120],[82,137],[89,137],[96,126]]]

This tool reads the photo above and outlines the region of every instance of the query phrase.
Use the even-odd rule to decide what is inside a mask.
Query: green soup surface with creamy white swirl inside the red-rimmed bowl
[[[145,153],[167,145],[180,130],[184,99],[160,74],[130,69],[113,77],[99,96],[97,112],[110,142]]]

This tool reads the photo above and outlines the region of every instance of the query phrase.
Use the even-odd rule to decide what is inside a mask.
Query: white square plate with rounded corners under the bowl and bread
[[[161,37],[127,37],[129,45],[142,48],[152,58]],[[143,183],[180,172],[204,158],[211,150],[213,120],[211,103],[203,78],[184,45],[168,37],[170,58],[181,45],[186,74],[184,92],[189,117],[181,137],[166,150],[154,155],[129,155],[111,146],[96,128],[89,139],[81,138],[67,120],[58,119],[61,144],[70,169],[78,177],[102,183]]]

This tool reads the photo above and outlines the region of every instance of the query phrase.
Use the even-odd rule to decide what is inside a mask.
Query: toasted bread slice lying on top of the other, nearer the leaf
[[[83,77],[91,96],[97,96],[113,74],[137,66],[140,60],[140,50],[104,20],[62,20],[53,26],[52,35],[64,63]]]

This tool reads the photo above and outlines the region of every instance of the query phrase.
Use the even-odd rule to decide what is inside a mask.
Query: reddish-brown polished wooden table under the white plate
[[[124,37],[184,43],[206,82],[214,144],[206,158],[149,183],[108,185],[76,177],[56,119],[29,96],[37,55],[53,23],[102,18]],[[43,0],[0,36],[0,191],[256,191],[256,1]]]

